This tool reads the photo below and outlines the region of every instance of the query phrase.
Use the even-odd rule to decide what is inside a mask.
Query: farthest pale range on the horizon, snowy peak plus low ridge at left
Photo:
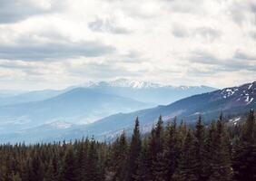
[[[174,100],[181,100],[188,96],[215,90],[214,88],[207,86],[174,87],[147,81],[129,81],[126,79],[99,82],[90,81],[84,85],[70,87],[64,90],[34,90],[28,92],[0,90],[0,106],[46,100],[68,90],[81,87],[103,94],[117,95],[142,102],[152,102],[155,106],[159,104],[168,104]]]

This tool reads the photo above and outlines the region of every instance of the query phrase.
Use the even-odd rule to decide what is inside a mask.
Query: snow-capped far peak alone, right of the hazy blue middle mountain
[[[130,81],[118,79],[115,81],[89,81],[81,85],[84,88],[114,94],[154,105],[166,105],[176,100],[216,90],[207,86],[172,86],[148,81]]]

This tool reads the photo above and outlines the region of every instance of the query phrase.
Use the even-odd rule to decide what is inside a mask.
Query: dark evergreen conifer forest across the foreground
[[[222,115],[195,128],[162,117],[151,133],[132,138],[123,132],[113,143],[84,138],[73,143],[0,147],[0,180],[8,181],[188,181],[256,179],[254,111],[239,125],[227,127]]]

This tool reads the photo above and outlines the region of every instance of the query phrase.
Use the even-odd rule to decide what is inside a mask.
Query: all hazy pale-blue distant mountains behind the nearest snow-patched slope
[[[90,123],[118,112],[142,110],[211,87],[173,87],[146,81],[87,82],[64,90],[34,90],[0,97],[0,130],[29,129],[54,121]],[[18,91],[10,91],[18,92]],[[5,92],[6,93],[6,92]]]

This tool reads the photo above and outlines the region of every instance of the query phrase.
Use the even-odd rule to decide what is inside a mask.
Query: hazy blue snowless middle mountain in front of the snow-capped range
[[[56,120],[85,123],[145,107],[147,104],[136,100],[76,88],[48,100],[1,106],[0,128],[5,132],[28,129]]]

